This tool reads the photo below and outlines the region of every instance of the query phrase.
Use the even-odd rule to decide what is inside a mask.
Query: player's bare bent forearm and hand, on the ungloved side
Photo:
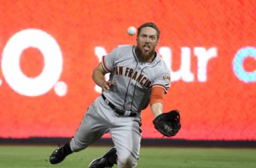
[[[110,87],[116,86],[111,81],[106,81],[104,75],[107,72],[102,68],[101,63],[93,70],[92,79],[93,81],[102,88],[102,92],[108,90]]]

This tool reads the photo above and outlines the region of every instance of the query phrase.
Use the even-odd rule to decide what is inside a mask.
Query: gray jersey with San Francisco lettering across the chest
[[[140,112],[148,106],[151,88],[162,87],[167,93],[170,87],[170,71],[164,61],[157,54],[153,62],[140,62],[135,46],[118,46],[103,56],[101,64],[116,83],[104,95],[123,110]]]

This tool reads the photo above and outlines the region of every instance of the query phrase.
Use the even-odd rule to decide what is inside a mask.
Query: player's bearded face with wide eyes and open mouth
[[[139,56],[142,61],[152,61],[157,42],[157,32],[154,28],[145,27],[141,29],[137,38],[137,56]]]

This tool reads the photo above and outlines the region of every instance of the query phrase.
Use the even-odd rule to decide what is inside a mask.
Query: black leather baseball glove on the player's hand
[[[175,136],[180,128],[180,112],[172,110],[170,112],[162,113],[155,117],[153,124],[156,130],[161,132],[166,137]]]

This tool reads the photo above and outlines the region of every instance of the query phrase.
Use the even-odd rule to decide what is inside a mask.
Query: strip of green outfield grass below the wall
[[[91,146],[51,165],[49,156],[57,146],[0,146],[0,167],[87,167],[108,147]],[[117,167],[117,166],[115,166]],[[256,149],[142,147],[139,168],[255,168]]]

